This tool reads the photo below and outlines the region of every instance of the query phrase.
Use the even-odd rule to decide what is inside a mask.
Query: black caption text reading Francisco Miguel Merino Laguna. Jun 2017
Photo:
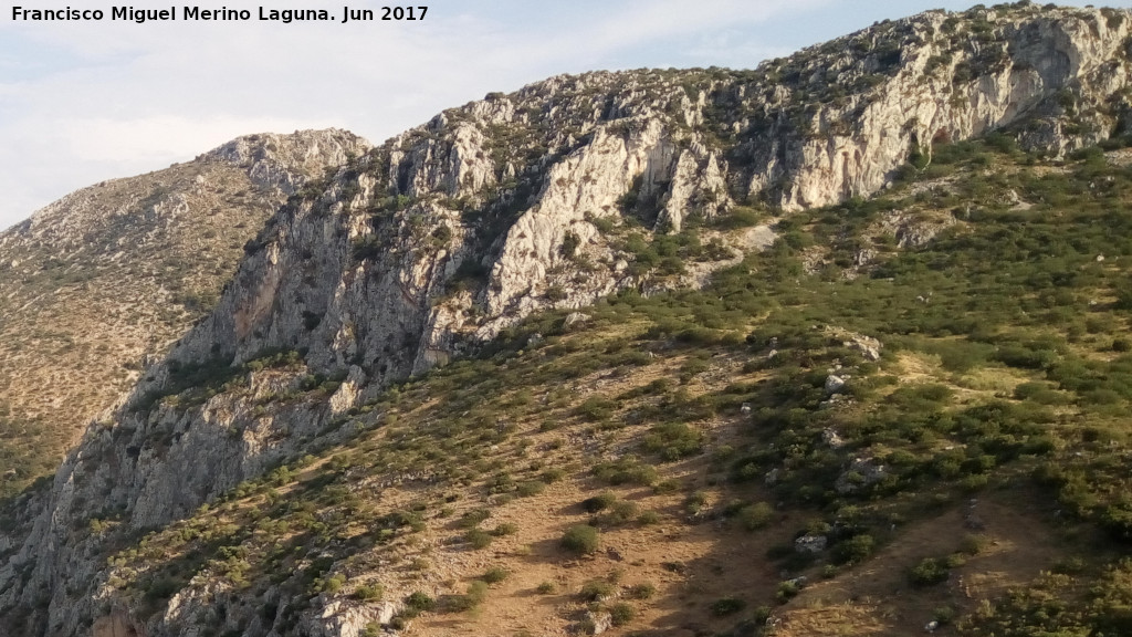
[[[422,20],[428,7],[379,7],[377,9],[353,9],[342,7],[341,14],[332,14],[326,9],[269,9],[258,7],[252,14],[249,9],[201,9],[200,7],[181,7],[178,12],[177,7],[168,9],[139,9],[137,7],[111,7],[109,11],[103,9],[75,9],[63,7],[61,9],[26,9],[24,7],[11,8],[11,19],[14,22],[101,22],[109,17],[111,20],[134,22],[138,24],[147,22],[245,22],[251,20],[256,16],[258,20],[280,22],[290,24],[293,22],[370,22],[370,20]],[[178,17],[180,16],[180,17]]]

